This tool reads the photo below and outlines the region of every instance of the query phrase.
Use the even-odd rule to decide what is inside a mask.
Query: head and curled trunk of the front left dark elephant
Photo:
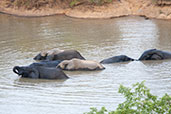
[[[25,78],[39,78],[39,72],[34,67],[15,66],[13,72]]]

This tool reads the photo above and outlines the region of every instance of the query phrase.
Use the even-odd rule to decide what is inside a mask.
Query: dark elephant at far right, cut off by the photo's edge
[[[138,59],[142,60],[164,60],[171,59],[171,52],[157,50],[157,49],[149,49],[144,51],[144,53]]]

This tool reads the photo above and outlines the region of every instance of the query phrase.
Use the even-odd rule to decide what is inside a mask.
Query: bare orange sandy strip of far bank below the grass
[[[0,12],[16,16],[49,16],[64,14],[75,18],[114,18],[128,15],[138,15],[147,18],[171,19],[171,5],[158,6],[152,1],[144,0],[114,0],[104,5],[82,3],[73,8],[62,7],[60,3],[54,6],[42,6],[38,9],[10,7],[6,1],[0,2]]]

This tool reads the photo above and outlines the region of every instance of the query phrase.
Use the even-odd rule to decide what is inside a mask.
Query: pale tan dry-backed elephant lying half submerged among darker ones
[[[90,60],[80,60],[80,59],[71,59],[62,61],[57,68],[63,70],[103,70],[105,69],[100,63]]]

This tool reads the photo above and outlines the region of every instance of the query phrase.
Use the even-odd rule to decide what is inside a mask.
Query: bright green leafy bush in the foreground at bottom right
[[[132,88],[120,85],[119,93],[126,100],[118,105],[116,111],[107,111],[105,107],[99,111],[90,108],[91,111],[85,114],[171,114],[171,96],[165,94],[158,98],[152,95],[144,81],[134,84]]]

